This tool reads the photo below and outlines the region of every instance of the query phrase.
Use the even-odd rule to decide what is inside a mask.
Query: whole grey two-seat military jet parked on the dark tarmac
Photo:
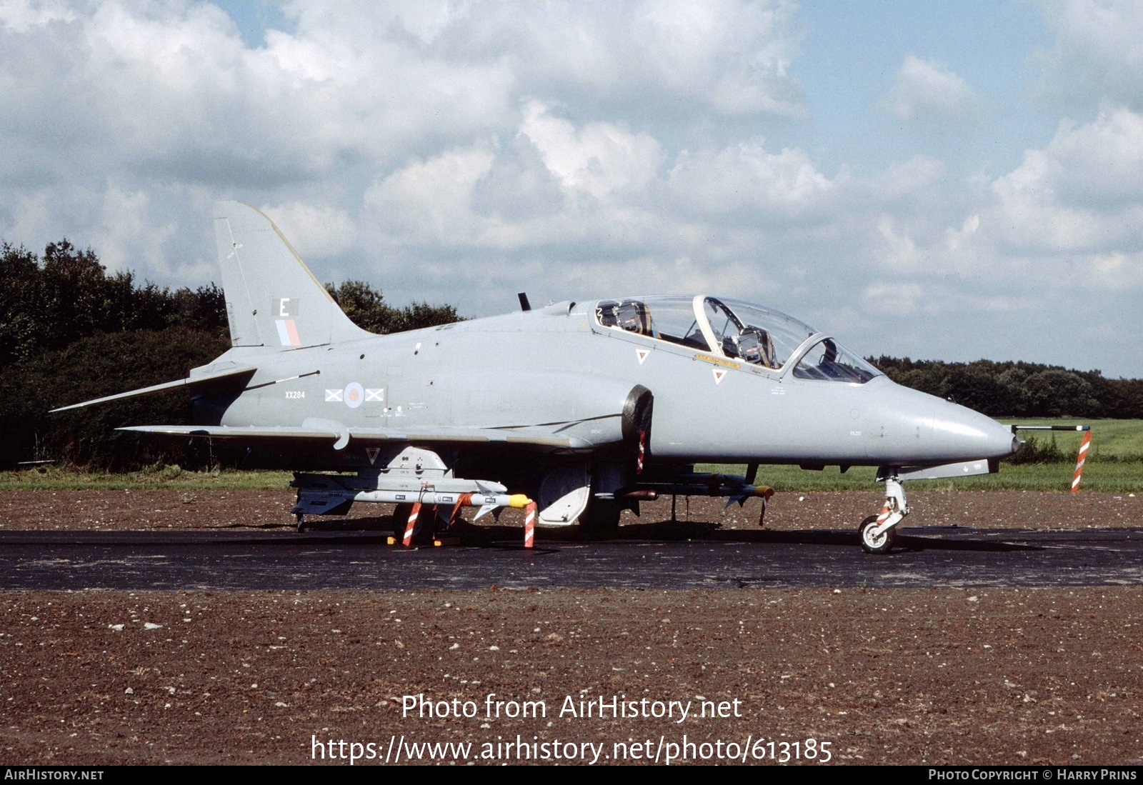
[[[539,523],[606,534],[664,494],[765,504],[761,464],[878,466],[885,504],[861,542],[881,553],[909,513],[904,481],[994,472],[1018,447],[770,309],[612,297],[378,336],[265,215],[221,202],[214,223],[232,347],[185,379],[74,406],[185,387],[193,425],[123,430],[230,440],[246,466],[295,470],[299,529],[354,502],[405,505],[403,523],[413,504],[482,514],[535,499]]]

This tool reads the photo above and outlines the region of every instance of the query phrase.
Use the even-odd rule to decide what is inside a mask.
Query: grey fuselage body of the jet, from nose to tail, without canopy
[[[289,426],[320,417],[410,432],[543,426],[586,447],[614,440],[623,398],[642,385],[654,394],[655,462],[920,465],[1013,451],[999,423],[885,376],[799,378],[791,363],[773,370],[601,327],[596,305],[563,303],[270,361],[262,354],[246,390],[200,400],[197,422]],[[242,365],[247,351],[233,349],[210,368]],[[368,465],[352,444],[322,451],[335,465]]]

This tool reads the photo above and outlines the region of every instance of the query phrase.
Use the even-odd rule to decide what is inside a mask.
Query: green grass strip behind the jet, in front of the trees
[[[1079,420],[1008,419],[1024,425],[1072,425]],[[1096,419],[1084,424],[1092,426],[1090,457],[1084,468],[1082,490],[1109,492],[1143,491],[1143,420]],[[1021,438],[1034,435],[1038,440],[1056,440],[1066,459],[1049,464],[1013,465],[1002,463],[998,474],[957,480],[920,480],[910,488],[952,488],[964,490],[1015,489],[1060,490],[1071,488],[1074,456],[1079,450],[1078,432],[1022,432]],[[701,465],[698,471],[742,474],[745,466]],[[837,466],[812,472],[798,466],[762,466],[758,481],[776,490],[861,490],[874,484],[877,470],[868,466],[850,468],[842,474]],[[157,467],[129,474],[87,473],[74,470],[46,467],[18,472],[0,472],[0,490],[119,490],[142,489],[249,489],[277,490],[286,488],[289,472],[184,472],[177,466]]]

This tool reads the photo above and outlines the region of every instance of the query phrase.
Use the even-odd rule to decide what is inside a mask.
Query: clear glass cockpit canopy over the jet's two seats
[[[863,384],[880,371],[833,338],[780,311],[734,299],[680,296],[601,299],[600,327],[688,346],[796,378]],[[813,339],[812,339],[813,338]]]

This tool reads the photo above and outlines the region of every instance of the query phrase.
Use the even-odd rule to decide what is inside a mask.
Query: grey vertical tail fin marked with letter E
[[[215,240],[232,345],[285,351],[369,335],[337,307],[261,211],[217,202]]]

